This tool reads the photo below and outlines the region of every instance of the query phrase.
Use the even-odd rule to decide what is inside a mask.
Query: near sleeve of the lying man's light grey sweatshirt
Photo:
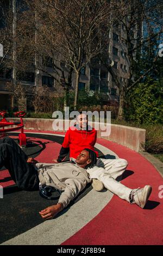
[[[84,190],[87,181],[86,179],[67,179],[65,184],[65,191],[61,193],[58,201],[58,203],[62,203],[64,208],[70,204],[71,200],[78,196],[80,191]]]

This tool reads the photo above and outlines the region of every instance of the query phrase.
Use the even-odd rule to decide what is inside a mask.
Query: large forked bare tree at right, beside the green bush
[[[149,74],[158,59],[158,52],[156,51],[151,67],[148,70],[142,70],[138,76],[135,75],[136,66],[139,65],[137,63],[137,55],[141,56],[142,47],[153,38],[158,39],[159,44],[159,38],[163,32],[162,3],[161,1],[146,0],[112,1],[111,9],[111,17],[116,16],[116,24],[120,25],[118,31],[120,35],[119,43],[125,45],[127,51],[127,60],[129,63],[128,79],[123,82],[120,81],[120,77],[116,76],[114,69],[109,65],[108,59],[104,54],[102,54],[101,60],[119,89],[118,119],[122,120],[124,118],[127,92],[139,83],[143,77]],[[134,34],[134,32],[137,33]]]

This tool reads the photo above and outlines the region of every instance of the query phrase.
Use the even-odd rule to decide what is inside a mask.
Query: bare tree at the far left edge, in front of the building
[[[3,45],[3,57],[0,58],[1,71],[12,76],[11,82],[5,84],[5,89],[14,94],[15,100],[20,102],[21,108],[26,108],[26,89],[20,81],[16,81],[17,70],[24,70],[23,59],[19,58],[20,39],[22,31],[16,25],[22,23],[23,5],[16,4],[15,0],[2,0],[0,3],[0,42]],[[3,74],[3,75],[4,75]],[[22,88],[21,88],[22,86]]]

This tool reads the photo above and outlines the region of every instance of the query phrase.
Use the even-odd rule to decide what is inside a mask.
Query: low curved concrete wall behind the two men
[[[19,118],[8,118],[9,121],[20,121]],[[62,123],[60,132],[66,132],[72,120],[61,119],[43,119],[43,118],[24,118],[24,129],[53,131],[54,120],[57,123]],[[68,122],[68,123],[66,123]],[[128,147],[136,152],[142,151],[142,144],[146,142],[146,130],[136,127],[105,124],[105,123],[90,123],[97,130],[97,138],[103,138],[108,141],[116,142],[125,147]],[[58,127],[58,125],[56,125]],[[98,127],[98,129],[96,128]]]

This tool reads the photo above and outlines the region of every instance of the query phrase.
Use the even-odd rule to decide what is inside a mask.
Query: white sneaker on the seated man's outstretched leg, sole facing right
[[[146,185],[143,188],[137,188],[136,190],[133,190],[131,194],[133,195],[134,202],[132,204],[137,204],[141,208],[144,208],[149,196],[151,195],[152,187],[149,185]]]

